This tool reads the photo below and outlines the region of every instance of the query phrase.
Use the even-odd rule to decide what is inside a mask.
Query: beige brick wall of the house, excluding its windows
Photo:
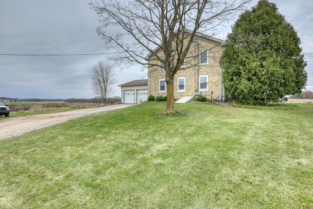
[[[199,45],[190,47],[190,54],[198,54],[199,51],[208,50],[208,64],[195,65],[195,59],[186,58],[185,65],[191,68],[186,70],[179,70],[174,79],[174,95],[175,99],[183,96],[194,96],[195,89],[199,89],[198,79],[200,75],[208,76],[208,90],[201,92],[201,95],[206,95],[208,99],[217,100],[218,95],[224,94],[224,87],[221,93],[221,67],[219,65],[219,58],[221,56],[223,46],[216,46],[204,40],[198,40]],[[161,55],[160,55],[161,56]],[[157,62],[157,61],[155,61]],[[185,77],[185,92],[178,92],[178,77]],[[159,93],[159,79],[165,79],[165,70],[159,70],[154,66],[148,69],[148,94],[163,95],[166,93]],[[200,82],[200,81],[199,81]],[[165,88],[166,89],[166,88]]]

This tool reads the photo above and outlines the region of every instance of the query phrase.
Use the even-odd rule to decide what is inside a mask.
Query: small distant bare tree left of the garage
[[[103,99],[107,104],[107,98],[113,93],[113,85],[115,84],[114,71],[111,65],[103,64],[99,61],[93,66],[91,75],[91,87],[93,93]]]

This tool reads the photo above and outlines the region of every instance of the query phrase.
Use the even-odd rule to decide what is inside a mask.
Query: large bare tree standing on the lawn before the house
[[[111,59],[125,66],[139,63],[165,70],[166,110],[174,108],[174,75],[184,59],[196,33],[213,35],[218,26],[228,23],[237,11],[251,0],[95,0],[90,6],[100,16],[96,29],[113,48]],[[111,26],[121,31],[113,33]],[[108,28],[108,30],[106,30]],[[208,34],[210,33],[210,34]],[[133,42],[127,42],[127,39]],[[195,58],[199,54],[193,55]],[[160,65],[160,63],[162,63]]]

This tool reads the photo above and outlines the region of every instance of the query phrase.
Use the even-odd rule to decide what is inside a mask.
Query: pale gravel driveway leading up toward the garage
[[[42,129],[68,120],[94,114],[106,113],[133,106],[134,104],[119,104],[85,110],[74,110],[63,113],[52,113],[34,116],[17,116],[0,121],[0,140],[21,136],[27,132]]]

